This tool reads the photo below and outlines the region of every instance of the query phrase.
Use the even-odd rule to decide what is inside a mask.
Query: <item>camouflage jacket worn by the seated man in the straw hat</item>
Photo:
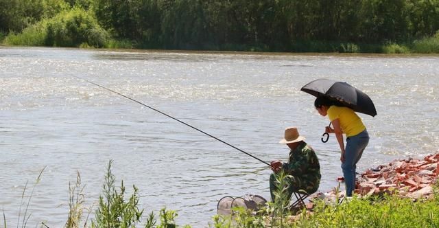
[[[322,177],[320,174],[320,163],[318,162],[316,152],[305,141],[295,150],[289,152],[288,162],[283,163],[282,169],[287,174],[300,179],[301,187],[317,191],[320,178]]]

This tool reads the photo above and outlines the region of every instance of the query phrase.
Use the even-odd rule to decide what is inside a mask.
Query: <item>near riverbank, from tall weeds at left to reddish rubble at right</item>
[[[336,187],[331,192],[315,194],[311,203],[307,203],[302,209],[290,210],[281,206],[282,203],[268,203],[256,215],[246,209],[235,208],[234,216],[213,216],[213,219],[206,223],[217,228],[263,228],[269,225],[270,227],[437,227],[439,225],[439,216],[436,213],[439,211],[438,160],[439,153],[429,155],[423,160],[401,159],[366,170],[357,181],[355,191],[357,194],[352,198],[344,198],[343,193]],[[32,188],[27,190],[25,187],[23,190],[22,201],[27,201],[27,206],[23,207],[23,211],[20,208],[20,213],[24,216],[27,214],[31,200],[34,201],[33,193],[44,176],[44,171],[45,168],[41,170]],[[389,181],[396,181],[398,185],[387,183]],[[361,183],[371,182],[377,187],[364,190]],[[128,194],[123,181],[120,187],[117,187],[115,175],[112,173],[112,161],[110,161],[99,203],[95,208],[86,208],[84,206],[86,194],[83,192],[84,187],[78,172],[76,183],[69,185],[69,212],[64,227],[103,227],[107,224],[115,227],[126,225],[180,227],[176,224],[178,213],[166,207],[158,214],[154,212],[145,214],[145,209],[139,205],[139,190],[134,185],[132,188],[132,194]],[[426,190],[427,188],[429,190]],[[29,191],[30,195],[28,195]],[[279,198],[283,198],[282,195]],[[89,219],[92,212],[95,215]],[[43,220],[40,223],[45,227],[51,227],[50,220]],[[10,224],[4,215],[3,224],[5,228]],[[19,220],[19,225],[27,227],[25,220],[23,222]],[[183,227],[189,228],[191,225]]]

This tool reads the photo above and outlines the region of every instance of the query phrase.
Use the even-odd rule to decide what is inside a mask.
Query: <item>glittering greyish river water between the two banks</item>
[[[34,190],[27,224],[62,227],[77,172],[93,211],[110,159],[117,186],[139,188],[145,215],[166,206],[178,211],[178,225],[208,226],[223,196],[270,198],[270,169],[260,161],[76,77],[263,161],[287,159],[278,141],[297,126],[320,159],[320,191],[342,172],[335,137],[320,142],[328,119],[300,91],[317,78],[346,81],[375,102],[376,117],[360,115],[371,139],[358,172],[438,152],[438,56],[0,47],[0,207],[8,226],[23,218]]]

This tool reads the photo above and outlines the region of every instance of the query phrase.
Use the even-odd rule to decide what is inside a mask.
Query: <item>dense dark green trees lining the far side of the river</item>
[[[58,26],[65,19],[60,14],[78,8],[99,23],[95,31],[105,30],[91,37],[99,41],[71,30],[80,38],[45,43],[56,46],[100,47],[116,40],[158,49],[383,52],[368,46],[380,44],[404,52],[391,45],[412,48],[439,30],[439,0],[0,0],[0,5],[0,38],[43,26],[43,20]]]

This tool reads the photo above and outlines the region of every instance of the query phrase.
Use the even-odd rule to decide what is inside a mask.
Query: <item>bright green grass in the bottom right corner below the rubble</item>
[[[353,198],[340,205],[319,203],[292,227],[439,227],[439,195],[429,201],[384,195]]]

